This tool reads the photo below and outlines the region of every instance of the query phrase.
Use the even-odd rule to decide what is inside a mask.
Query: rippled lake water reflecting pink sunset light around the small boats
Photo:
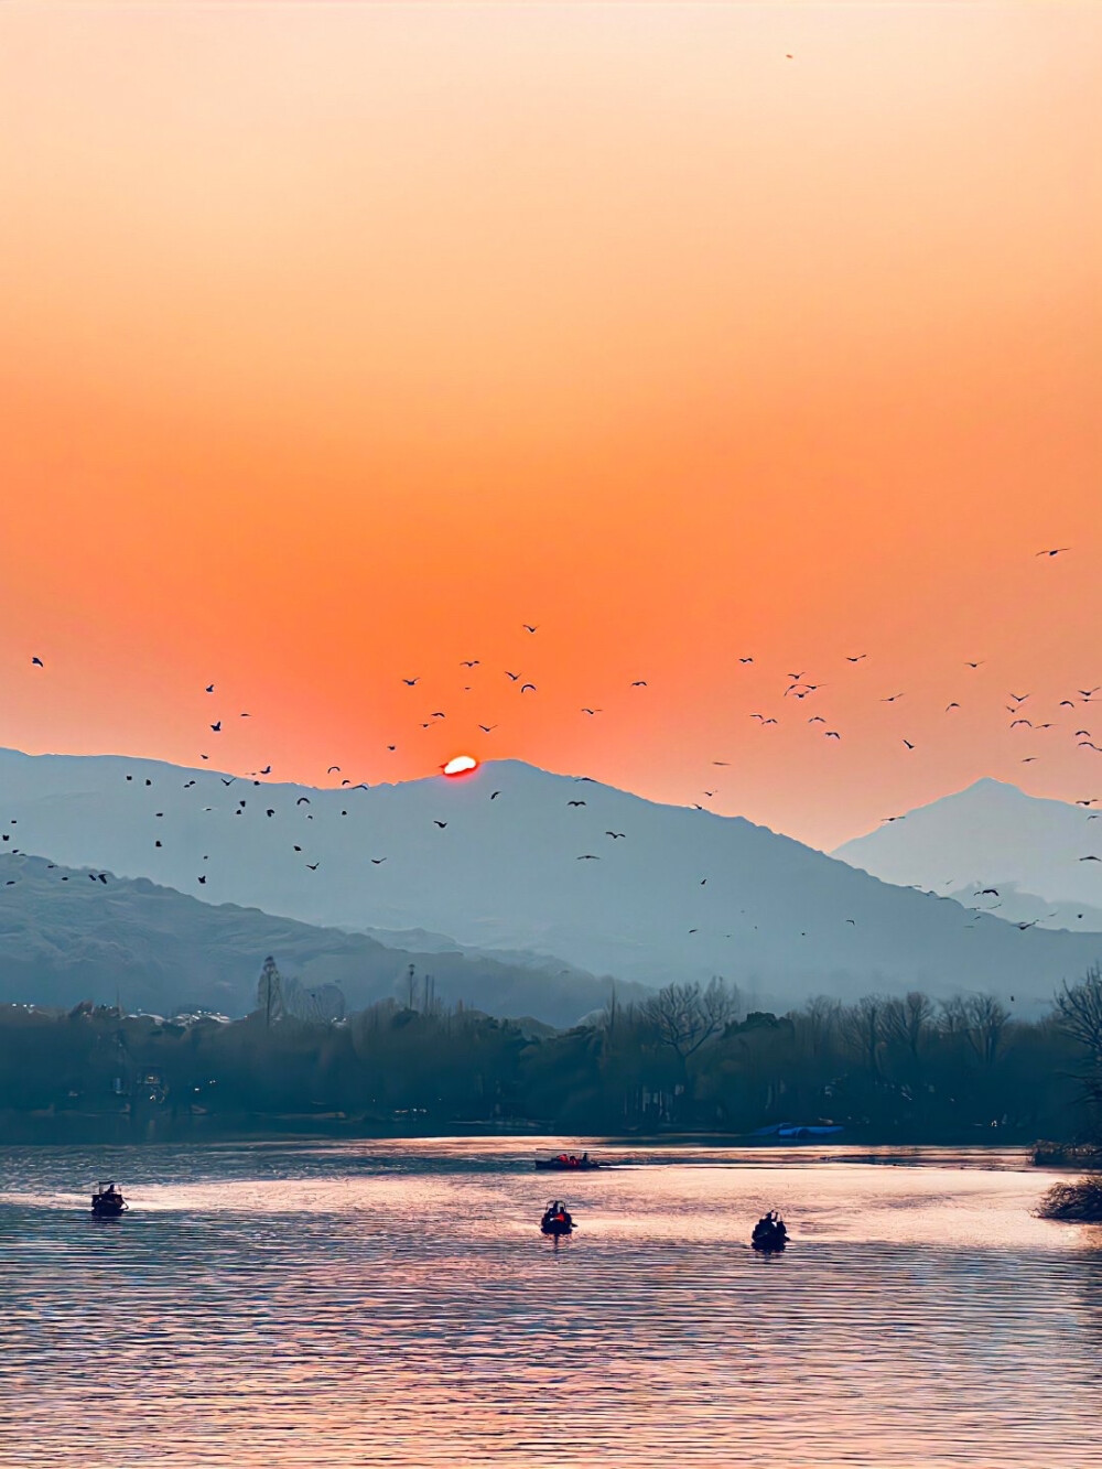
[[[1049,1175],[533,1153],[0,1150],[0,1463],[1102,1466],[1102,1230],[1030,1216]]]

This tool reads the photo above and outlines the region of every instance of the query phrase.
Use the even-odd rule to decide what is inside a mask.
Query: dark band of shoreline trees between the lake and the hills
[[[990,995],[820,997],[746,1014],[721,980],[670,984],[570,1030],[401,997],[342,1015],[264,967],[257,1008],[126,1015],[0,1008],[0,1137],[287,1131],[570,1134],[835,1124],[854,1141],[1099,1137],[1102,978],[1018,1019]]]

